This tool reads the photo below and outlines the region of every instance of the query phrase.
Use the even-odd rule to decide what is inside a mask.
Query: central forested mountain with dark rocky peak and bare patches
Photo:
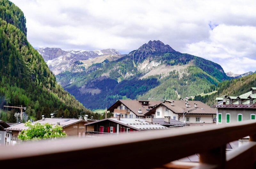
[[[182,54],[159,40],[150,40],[116,61],[57,76],[68,92],[91,109],[109,107],[117,99],[195,96],[227,79],[219,64]]]

